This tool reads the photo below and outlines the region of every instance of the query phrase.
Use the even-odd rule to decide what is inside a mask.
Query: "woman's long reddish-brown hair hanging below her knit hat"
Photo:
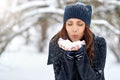
[[[63,25],[61,31],[59,31],[55,35],[53,40],[56,42],[59,37],[61,37],[63,39],[69,39],[65,24]],[[85,42],[86,42],[86,52],[89,57],[90,63],[92,63],[92,60],[94,58],[94,45],[93,45],[94,40],[93,40],[93,34],[87,25],[85,26],[85,31],[84,31],[82,40],[85,40]]]

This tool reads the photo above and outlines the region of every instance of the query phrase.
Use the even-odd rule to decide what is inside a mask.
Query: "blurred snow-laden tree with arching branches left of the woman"
[[[54,15],[58,17],[63,14],[63,10],[60,8],[51,8],[51,1],[29,1],[21,2],[16,0],[13,3],[14,6],[10,8],[7,14],[3,14],[4,18],[0,20],[0,54],[5,50],[7,45],[11,42],[13,38],[26,32],[26,42],[29,42],[29,29],[31,27],[36,28],[36,24],[39,24],[42,31],[42,39],[39,45],[40,51],[43,51],[43,44],[46,39],[46,30],[48,28],[47,19],[51,18],[57,20]],[[10,5],[11,6],[11,5]],[[10,7],[9,6],[9,7]],[[56,12],[57,11],[57,12]],[[48,14],[43,16],[43,14]],[[44,20],[43,20],[44,19]],[[45,21],[45,23],[44,23]],[[59,20],[57,20],[59,21]]]

